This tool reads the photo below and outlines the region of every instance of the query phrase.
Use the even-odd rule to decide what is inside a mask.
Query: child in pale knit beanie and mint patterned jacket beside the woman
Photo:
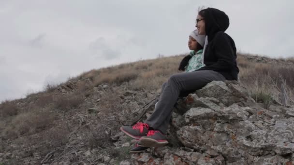
[[[199,35],[198,34],[198,30],[193,30],[191,32],[191,34],[189,36],[189,41],[188,41],[188,47],[191,50],[191,53],[188,56],[189,59],[187,57],[185,57],[182,60],[181,64],[183,66],[179,70],[184,71],[184,69],[185,69],[185,72],[191,72],[191,71],[197,70],[197,69],[205,66],[203,64],[203,58],[202,58],[202,52],[203,52],[204,42],[205,42],[205,35]],[[184,94],[184,93],[185,92],[183,91],[182,94]],[[155,107],[156,107],[156,104],[155,104]],[[136,139],[136,141],[139,141],[138,138],[135,138],[135,139]],[[135,144],[135,147],[132,148],[132,150],[130,151],[130,153],[140,153],[142,151],[146,151],[147,149],[148,149],[148,147],[139,146],[136,143]]]

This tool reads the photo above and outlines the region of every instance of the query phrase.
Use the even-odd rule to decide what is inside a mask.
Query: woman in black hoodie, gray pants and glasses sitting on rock
[[[214,8],[201,10],[196,19],[198,33],[206,35],[204,67],[189,73],[173,74],[162,87],[162,93],[152,115],[144,122],[122,126],[120,130],[139,139],[144,147],[160,147],[168,143],[166,130],[173,107],[181,91],[197,90],[212,81],[237,80],[236,48],[233,39],[224,33],[229,27],[229,17]],[[180,68],[186,66],[190,55],[184,57]]]

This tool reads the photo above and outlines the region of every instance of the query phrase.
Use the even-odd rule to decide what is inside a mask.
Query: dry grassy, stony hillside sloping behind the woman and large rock
[[[183,55],[159,57],[90,70],[68,82],[59,85],[48,84],[43,92],[29,94],[23,99],[2,102],[0,104],[0,165],[156,164],[156,161],[162,163],[161,161],[168,162],[167,160],[175,159],[172,151],[177,150],[180,150],[181,153],[184,151],[195,152],[193,154],[196,154],[196,157],[201,154],[201,156],[198,155],[199,160],[203,159],[203,161],[206,158],[219,158],[219,151],[207,151],[201,146],[192,146],[192,143],[187,142],[182,134],[181,136],[172,135],[172,129],[170,137],[183,137],[184,140],[176,142],[173,140],[161,151],[149,150],[147,153],[131,155],[128,151],[133,147],[133,141],[119,131],[121,125],[131,124],[134,119],[139,119],[142,111],[147,111],[146,114],[144,113],[143,119],[150,114],[156,98],[160,95],[162,83],[167,81],[171,74],[179,72],[177,67],[182,58]],[[273,59],[239,54],[237,62],[240,69],[240,83],[238,85],[246,88],[245,100],[252,99],[252,104],[240,105],[241,101],[238,100],[234,103],[238,103],[241,108],[235,109],[244,109],[245,111],[248,109],[244,107],[250,105],[251,107],[249,107],[253,109],[253,105],[260,107],[264,112],[271,111],[276,116],[279,115],[281,118],[277,118],[277,120],[283,119],[288,122],[293,119],[294,115],[292,116],[290,112],[292,112],[294,105],[294,59]],[[284,84],[286,92],[283,92],[282,84]],[[287,94],[287,106],[282,106],[283,100],[281,98],[285,93]],[[208,97],[203,93],[196,92],[196,95],[199,95],[200,98]],[[214,98],[211,100],[218,100],[218,97],[211,96]],[[228,96],[228,98],[231,97]],[[194,100],[198,99],[197,97]],[[223,105],[218,101],[215,104],[224,109],[233,105],[233,103]],[[196,103],[192,105],[193,107],[188,107],[198,106]],[[183,105],[179,109],[185,109],[183,108],[185,106],[187,107],[187,105]],[[234,112],[235,109],[232,108],[231,111]],[[174,125],[175,130],[179,131],[192,124],[195,118],[187,116],[187,110],[182,114],[185,113],[185,120],[188,123],[177,125],[178,127]],[[204,110],[204,117],[199,117],[192,112],[190,112],[190,116],[194,115],[201,120],[207,119],[206,115],[210,115],[215,120],[218,120],[220,116],[222,119],[226,118],[224,114],[219,114],[221,112],[218,110],[215,110],[213,114],[209,110],[209,113]],[[247,116],[246,119],[250,114],[250,112],[244,114]],[[257,118],[252,119],[251,122],[267,120],[259,115],[262,114],[257,114]],[[273,116],[271,119],[275,119]],[[174,117],[176,119],[178,116]],[[245,121],[245,118],[242,120]],[[230,124],[231,119],[226,122]],[[213,124],[212,127],[215,128],[216,125]],[[286,127],[290,129],[290,126]],[[266,129],[264,128],[265,131]],[[251,135],[253,136],[251,138],[261,136]],[[279,137],[274,138],[279,139]],[[274,145],[272,148],[276,146]],[[258,152],[263,151],[266,147],[256,148],[257,151],[250,150],[249,152],[252,153],[250,154],[251,163],[254,161],[253,157],[267,155],[276,156],[275,159],[285,159],[284,162],[294,161],[292,148],[289,151],[279,150],[280,153],[277,150]],[[240,151],[243,150],[245,149],[240,148]],[[256,154],[253,155],[253,152]],[[228,155],[223,154],[220,158],[223,160],[218,164],[237,161],[238,157],[233,159]],[[176,159],[179,158],[182,163],[192,164],[189,162],[191,157],[186,160],[185,154],[177,156]],[[243,155],[240,158],[247,159],[250,156],[245,158]],[[156,161],[149,162],[150,157]],[[199,160],[197,158],[198,164]],[[256,162],[258,163],[257,159]],[[181,162],[178,163],[181,164]]]

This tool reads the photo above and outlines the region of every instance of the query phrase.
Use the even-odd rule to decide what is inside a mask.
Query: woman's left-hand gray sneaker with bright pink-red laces
[[[139,139],[146,136],[148,133],[149,125],[145,123],[137,123],[133,126],[122,126],[120,130],[127,134],[129,137]]]

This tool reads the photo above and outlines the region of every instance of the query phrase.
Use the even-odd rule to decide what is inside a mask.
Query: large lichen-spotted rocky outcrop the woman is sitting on
[[[171,144],[134,154],[130,161],[138,165],[292,165],[294,109],[273,107],[260,107],[235,81],[208,83],[178,101],[168,132]]]

